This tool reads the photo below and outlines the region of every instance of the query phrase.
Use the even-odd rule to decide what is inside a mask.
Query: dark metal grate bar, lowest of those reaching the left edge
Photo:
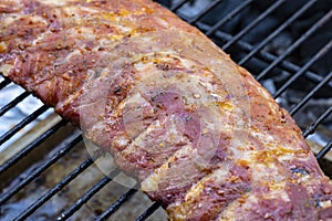
[[[77,136],[75,139],[73,139],[70,144],[68,144],[65,147],[63,147],[61,150],[59,150],[53,157],[48,159],[44,164],[42,164],[40,167],[38,167],[35,170],[31,171],[28,177],[25,177],[20,183],[8,190],[6,193],[0,196],[0,204],[6,202],[8,199],[10,199],[13,194],[19,192],[22,188],[24,188],[28,183],[30,183],[34,178],[40,176],[45,169],[51,167],[56,160],[59,160],[62,156],[64,156],[66,152],[69,152],[76,144],[79,144],[82,140],[82,136]]]

